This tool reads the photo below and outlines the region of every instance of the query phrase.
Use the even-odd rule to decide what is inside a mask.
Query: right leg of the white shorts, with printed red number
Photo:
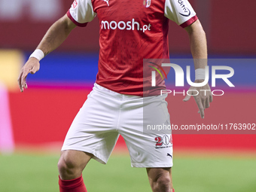
[[[157,119],[145,118],[145,110],[156,113]],[[146,102],[142,99],[142,103],[134,105],[130,103],[120,119],[123,122],[120,135],[126,142],[133,167],[172,167],[172,134],[144,128],[145,124],[170,124],[164,97],[152,97]]]

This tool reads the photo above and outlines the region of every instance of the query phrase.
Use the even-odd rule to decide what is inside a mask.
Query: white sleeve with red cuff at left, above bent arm
[[[96,17],[91,0],[75,0],[67,15],[77,26],[87,26]]]

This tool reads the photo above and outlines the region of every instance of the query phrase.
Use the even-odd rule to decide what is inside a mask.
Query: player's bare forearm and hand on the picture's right
[[[206,33],[203,30],[203,26],[200,21],[197,20],[192,23],[190,26],[185,28],[190,38],[190,50],[194,58],[195,69],[205,69],[207,66],[207,43],[206,43]],[[202,83],[204,79],[197,79],[195,83]],[[204,110],[209,108],[210,102],[212,102],[212,91],[209,84],[206,84],[203,87],[190,87],[190,90],[197,90],[198,95],[194,96],[197,106],[199,108],[199,113],[201,117],[204,118]],[[205,91],[202,91],[205,90]],[[206,91],[208,90],[208,91]],[[196,91],[190,91],[190,95],[196,95]],[[183,101],[187,102],[190,99],[190,96],[187,95]]]

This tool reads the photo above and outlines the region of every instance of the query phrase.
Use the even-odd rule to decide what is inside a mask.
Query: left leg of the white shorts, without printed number
[[[104,93],[93,90],[72,122],[62,151],[84,151],[107,163],[119,136],[115,129],[117,106]]]

